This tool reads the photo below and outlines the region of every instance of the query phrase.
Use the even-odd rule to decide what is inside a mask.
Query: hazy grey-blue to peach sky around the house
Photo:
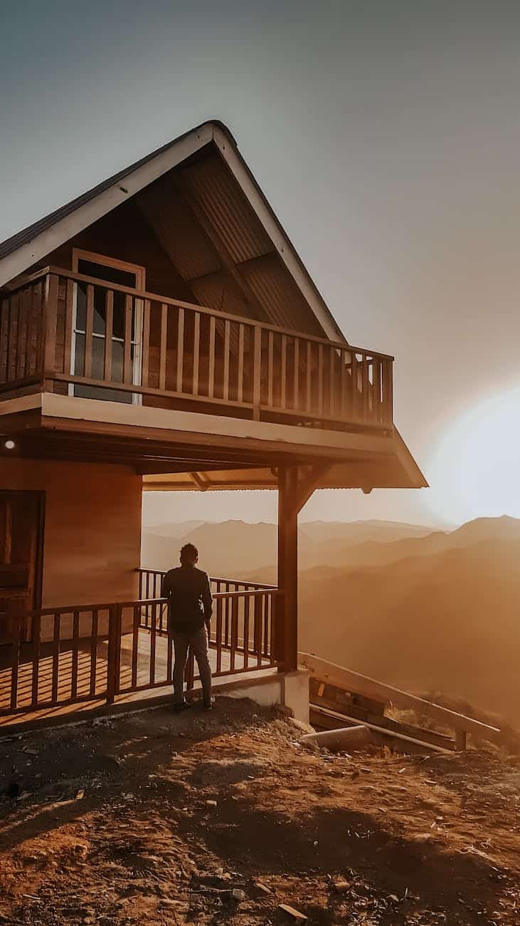
[[[395,354],[395,419],[435,474],[431,491],[319,493],[304,516],[501,513],[500,445],[446,510],[445,438],[520,384],[517,3],[0,0],[0,16],[0,240],[222,119],[347,338]],[[171,507],[274,510],[272,494]]]

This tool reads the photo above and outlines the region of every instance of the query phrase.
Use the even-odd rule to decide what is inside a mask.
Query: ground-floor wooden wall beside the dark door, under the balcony
[[[45,493],[43,607],[137,597],[142,480],[130,468],[4,459],[0,488]]]

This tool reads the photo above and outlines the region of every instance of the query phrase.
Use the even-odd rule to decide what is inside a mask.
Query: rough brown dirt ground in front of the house
[[[313,754],[246,701],[1,741],[0,922],[520,924],[520,766]]]

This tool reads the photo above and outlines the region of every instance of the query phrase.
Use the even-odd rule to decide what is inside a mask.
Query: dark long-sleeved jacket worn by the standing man
[[[161,584],[168,599],[170,633],[196,633],[211,619],[213,602],[207,572],[184,563],[169,569]]]

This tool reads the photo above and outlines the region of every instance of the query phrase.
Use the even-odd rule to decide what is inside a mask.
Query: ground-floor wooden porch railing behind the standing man
[[[277,666],[281,594],[267,587],[214,595],[214,676]],[[8,615],[8,639],[0,644],[0,719],[171,686],[166,605],[153,597]],[[188,686],[197,678],[189,660]]]

